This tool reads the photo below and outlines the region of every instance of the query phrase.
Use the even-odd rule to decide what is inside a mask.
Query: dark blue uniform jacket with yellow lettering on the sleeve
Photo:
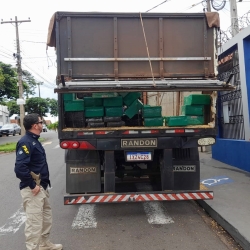
[[[16,164],[15,173],[21,180],[20,189],[30,187],[34,189],[36,183],[30,172],[41,176],[41,186],[46,190],[50,185],[49,169],[46,160],[46,154],[43,146],[38,141],[40,136],[29,131],[23,136],[16,146]]]

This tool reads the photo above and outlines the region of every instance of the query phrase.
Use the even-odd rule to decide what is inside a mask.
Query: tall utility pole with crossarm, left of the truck
[[[19,23],[30,22],[30,20],[17,20],[15,16],[15,21],[2,21],[1,24],[11,23],[15,24],[16,27],[16,47],[17,47],[17,74],[18,74],[18,87],[19,87],[19,99],[23,99],[23,81],[22,81],[22,66],[21,66],[21,53],[20,53],[20,43],[19,43],[19,32],[18,25]],[[19,104],[20,105],[20,125],[21,125],[21,135],[24,135],[24,127],[23,127],[23,118],[24,118],[24,100]]]

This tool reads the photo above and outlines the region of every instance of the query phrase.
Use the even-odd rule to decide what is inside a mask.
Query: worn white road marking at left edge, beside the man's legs
[[[9,219],[9,221],[2,227],[0,227],[0,235],[5,235],[8,233],[16,233],[22,224],[26,220],[25,213],[23,211],[23,208],[17,210],[16,213],[14,213]]]

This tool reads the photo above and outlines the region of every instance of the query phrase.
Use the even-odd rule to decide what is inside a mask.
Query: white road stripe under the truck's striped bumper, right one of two
[[[148,184],[138,183],[136,188],[139,192],[152,191]],[[166,208],[159,201],[143,202],[143,208],[148,218],[149,224],[170,224],[174,220],[168,215]]]

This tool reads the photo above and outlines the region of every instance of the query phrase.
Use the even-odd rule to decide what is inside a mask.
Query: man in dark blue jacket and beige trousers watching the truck
[[[27,250],[60,250],[61,244],[49,241],[52,224],[48,192],[49,169],[44,148],[38,141],[43,129],[42,123],[38,114],[24,117],[26,135],[17,143],[15,173],[21,180],[20,190],[27,217],[25,222]]]

